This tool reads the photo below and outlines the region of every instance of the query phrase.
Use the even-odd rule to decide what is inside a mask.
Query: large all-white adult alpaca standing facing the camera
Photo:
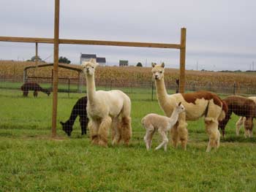
[[[87,115],[91,142],[108,146],[108,132],[112,129],[112,145],[124,140],[129,144],[132,136],[131,101],[122,91],[96,91],[94,72],[99,64],[95,59],[82,64],[87,83]],[[121,118],[121,120],[119,120]]]

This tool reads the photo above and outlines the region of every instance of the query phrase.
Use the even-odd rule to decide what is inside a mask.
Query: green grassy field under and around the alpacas
[[[84,93],[59,93],[58,139],[50,139],[52,96],[23,98],[0,89],[0,191],[256,191],[256,139],[235,134],[238,117],[227,124],[219,150],[206,153],[203,120],[189,122],[187,151],[146,151],[140,120],[162,114],[157,101],[132,99],[133,136],[129,147],[98,147],[80,135],[61,131],[72,106]],[[160,142],[155,135],[153,147]]]

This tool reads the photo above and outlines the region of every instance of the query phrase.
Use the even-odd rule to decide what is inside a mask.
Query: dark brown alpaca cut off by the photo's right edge
[[[219,122],[219,128],[222,129],[222,136],[225,136],[225,126],[230,120],[232,113],[245,117],[246,120],[244,122],[244,128],[252,131],[253,118],[256,118],[255,101],[243,96],[227,96],[227,98],[222,99],[222,101],[225,101],[228,107],[228,112],[226,113],[225,119]]]

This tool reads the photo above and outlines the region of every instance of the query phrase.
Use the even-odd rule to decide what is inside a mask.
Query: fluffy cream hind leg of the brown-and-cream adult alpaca
[[[218,130],[218,122],[217,120],[210,120],[210,118],[207,118],[205,120],[205,123],[206,123],[206,132],[209,136],[209,142],[208,142],[206,152],[210,152],[211,147],[215,147],[216,149],[219,148],[220,134]]]

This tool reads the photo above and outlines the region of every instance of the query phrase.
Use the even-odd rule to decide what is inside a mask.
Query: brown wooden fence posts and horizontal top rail
[[[59,39],[59,0],[55,0],[54,15],[54,38],[33,38],[33,37],[0,37],[1,42],[30,42],[36,44],[36,58],[38,43],[53,44],[53,114],[52,114],[52,137],[56,137],[56,119],[58,104],[58,65],[59,65],[59,44],[73,45],[105,45],[105,46],[124,46],[124,47],[154,47],[180,50],[180,75],[179,91],[184,93],[185,89],[185,58],[186,58],[186,34],[187,29],[181,28],[180,44],[148,43],[148,42],[114,42],[81,39]],[[37,63],[37,61],[36,61]]]

